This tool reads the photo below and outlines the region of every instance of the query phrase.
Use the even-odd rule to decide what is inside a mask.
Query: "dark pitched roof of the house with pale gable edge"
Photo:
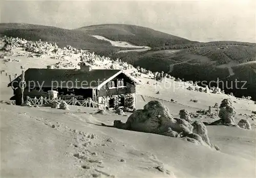
[[[62,87],[62,88],[95,88],[102,86],[113,80],[120,73],[124,73],[135,84],[140,82],[123,70],[114,69],[93,69],[82,71],[74,69],[48,69],[48,68],[29,68],[25,71],[25,82],[28,87]],[[18,87],[20,82],[16,78],[8,87]]]

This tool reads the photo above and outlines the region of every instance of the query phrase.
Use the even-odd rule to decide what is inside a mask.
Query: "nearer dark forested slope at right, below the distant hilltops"
[[[240,47],[231,46],[228,57],[222,58],[222,54],[212,50],[212,54],[200,55],[189,52],[187,49],[181,50],[159,50],[147,52],[127,52],[127,53],[108,53],[106,51],[96,54],[109,56],[112,59],[121,59],[134,66],[140,66],[152,71],[164,71],[175,78],[186,81],[222,81],[219,85],[225,92],[232,92],[237,97],[251,96],[256,100],[256,67],[255,48],[246,47],[249,53],[243,53]],[[214,56],[215,55],[215,56]],[[232,56],[231,56],[232,55]],[[245,56],[246,55],[246,56]],[[229,71],[233,70],[233,73]],[[235,80],[245,81],[235,88]],[[224,83],[224,85],[223,85]],[[200,84],[199,84],[200,85]],[[233,86],[232,88],[231,85]],[[212,86],[217,86],[211,83]],[[247,89],[241,89],[242,86]]]

